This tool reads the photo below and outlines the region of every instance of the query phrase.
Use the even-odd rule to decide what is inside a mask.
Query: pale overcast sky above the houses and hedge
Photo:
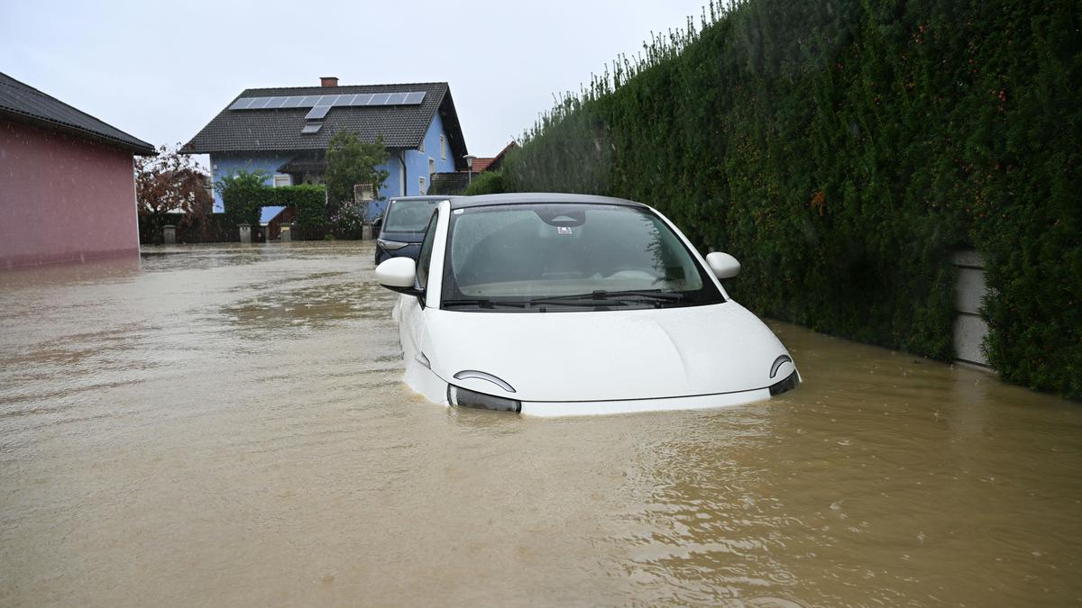
[[[155,145],[246,88],[447,81],[470,153],[492,156],[702,2],[0,0],[0,71]]]

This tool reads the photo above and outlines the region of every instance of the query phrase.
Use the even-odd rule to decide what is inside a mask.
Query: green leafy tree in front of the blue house
[[[371,220],[367,203],[358,204],[355,200],[354,186],[370,184],[372,197],[382,200],[380,188],[388,173],[377,167],[386,163],[388,158],[382,135],[371,144],[362,142],[360,135],[353,131],[339,131],[331,136],[327,143],[327,172],[324,174],[328,220],[331,223],[354,227],[354,223]]]

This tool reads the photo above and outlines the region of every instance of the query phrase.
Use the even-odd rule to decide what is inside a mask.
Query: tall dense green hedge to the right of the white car
[[[709,12],[708,12],[709,11]],[[1082,4],[747,0],[620,57],[507,157],[509,190],[658,207],[756,312],[947,360],[955,249],[990,362],[1082,398]]]

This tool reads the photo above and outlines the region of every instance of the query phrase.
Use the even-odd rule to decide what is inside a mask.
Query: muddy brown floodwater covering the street
[[[0,274],[0,605],[1082,602],[1078,404],[774,322],[771,401],[447,410],[371,257]]]

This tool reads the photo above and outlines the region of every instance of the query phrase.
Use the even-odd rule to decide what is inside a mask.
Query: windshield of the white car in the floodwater
[[[541,203],[457,209],[440,307],[618,309],[724,302],[650,210]]]

